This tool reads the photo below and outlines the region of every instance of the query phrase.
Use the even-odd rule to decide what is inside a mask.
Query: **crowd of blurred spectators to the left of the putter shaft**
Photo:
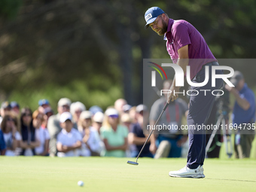
[[[97,105],[87,109],[68,98],[59,99],[56,114],[53,108],[47,99],[41,99],[35,111],[2,102],[1,154],[136,157],[148,136],[143,123],[148,108],[128,105],[125,99],[117,99],[105,111]],[[142,157],[154,157],[149,148],[150,141]]]

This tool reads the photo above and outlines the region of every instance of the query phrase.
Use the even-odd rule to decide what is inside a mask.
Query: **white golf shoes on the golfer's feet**
[[[177,178],[205,178],[203,174],[203,166],[198,166],[197,169],[189,169],[187,166],[178,170],[169,172],[169,176]]]

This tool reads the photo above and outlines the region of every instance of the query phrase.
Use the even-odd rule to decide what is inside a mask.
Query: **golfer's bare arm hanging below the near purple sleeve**
[[[184,74],[187,72],[187,65],[188,65],[188,45],[185,45],[184,47],[181,47],[178,50],[178,62],[177,65],[183,69]],[[168,96],[167,102],[174,101],[178,98],[178,94],[174,95],[174,91],[177,93],[179,91],[180,87],[175,86],[175,77],[172,81],[172,87],[170,88],[171,93]]]

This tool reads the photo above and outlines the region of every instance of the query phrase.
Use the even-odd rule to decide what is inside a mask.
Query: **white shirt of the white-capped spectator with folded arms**
[[[82,137],[78,130],[72,128],[72,130],[67,133],[66,130],[62,129],[62,131],[57,136],[57,144],[61,143],[62,145],[66,145],[68,147],[74,145],[76,142],[81,141]],[[80,155],[80,149],[75,149],[72,151],[68,151],[66,153],[58,152],[58,157],[77,157]]]

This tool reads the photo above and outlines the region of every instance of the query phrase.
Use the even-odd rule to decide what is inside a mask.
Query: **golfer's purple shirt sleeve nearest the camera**
[[[187,44],[191,44],[188,28],[184,23],[175,23],[172,26],[172,36],[177,46],[177,50]]]

